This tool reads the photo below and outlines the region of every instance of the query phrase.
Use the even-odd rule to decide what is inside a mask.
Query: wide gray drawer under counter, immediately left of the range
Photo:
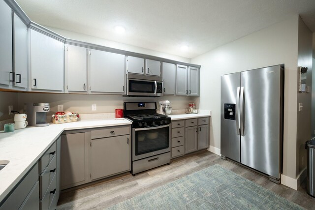
[[[129,127],[110,127],[91,131],[91,139],[99,139],[112,136],[127,135],[130,133]]]

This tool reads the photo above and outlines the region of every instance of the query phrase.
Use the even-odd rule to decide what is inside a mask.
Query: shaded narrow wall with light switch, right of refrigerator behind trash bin
[[[307,77],[307,86],[312,87],[312,54],[313,33],[305,25],[301,17],[299,17],[299,35],[298,35],[298,66],[308,67],[307,73],[303,77]],[[303,110],[298,111],[297,115],[297,142],[296,142],[296,175],[299,175],[306,168],[306,150],[305,142],[311,139],[311,111],[312,111],[312,93],[298,92],[297,107],[299,103],[303,103]],[[313,131],[314,132],[314,131]]]

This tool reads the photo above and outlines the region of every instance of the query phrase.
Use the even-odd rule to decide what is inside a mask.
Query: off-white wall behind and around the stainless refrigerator
[[[284,63],[285,176],[296,178],[298,15],[192,59],[201,65],[200,109],[212,110],[210,145],[220,149],[221,75]]]

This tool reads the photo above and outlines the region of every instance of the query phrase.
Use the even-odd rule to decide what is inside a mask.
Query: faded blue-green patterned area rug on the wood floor
[[[109,207],[112,210],[302,210],[216,164]]]

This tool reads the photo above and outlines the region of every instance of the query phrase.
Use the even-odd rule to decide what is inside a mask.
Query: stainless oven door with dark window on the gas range
[[[132,129],[132,160],[171,151],[170,126]]]

